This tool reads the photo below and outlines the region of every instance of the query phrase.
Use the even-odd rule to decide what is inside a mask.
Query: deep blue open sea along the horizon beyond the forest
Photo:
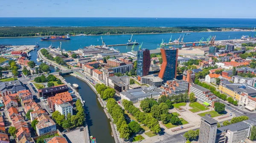
[[[256,27],[256,19],[232,18],[111,18],[111,17],[0,17],[0,26],[131,26],[131,27]]]

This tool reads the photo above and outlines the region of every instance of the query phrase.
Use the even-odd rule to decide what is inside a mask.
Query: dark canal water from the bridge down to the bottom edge
[[[70,75],[64,76],[64,79],[70,84],[79,85],[78,91],[85,101],[85,111],[88,112],[86,119],[90,136],[96,137],[97,143],[115,143],[114,138],[111,137],[110,120],[99,104],[96,93],[81,79]]]

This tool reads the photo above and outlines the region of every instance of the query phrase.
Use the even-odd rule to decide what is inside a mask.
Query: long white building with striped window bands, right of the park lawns
[[[194,93],[195,98],[198,101],[201,101],[204,105],[211,106],[212,108],[214,107],[214,104],[219,101],[216,95],[211,93],[210,90],[194,83],[190,84],[189,94],[190,93]]]

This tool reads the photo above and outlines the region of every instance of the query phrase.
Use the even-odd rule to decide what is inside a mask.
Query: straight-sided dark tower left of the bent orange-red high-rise
[[[150,52],[148,49],[138,50],[137,53],[137,76],[147,76],[150,68]]]

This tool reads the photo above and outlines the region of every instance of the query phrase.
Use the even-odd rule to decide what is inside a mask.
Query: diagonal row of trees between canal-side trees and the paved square
[[[148,126],[150,131],[153,133],[160,132],[160,125],[157,119],[153,118],[151,115],[148,115],[145,112],[141,112],[140,109],[135,107],[131,101],[123,100],[122,104],[131,115],[133,115],[138,121],[144,123],[145,126]]]

